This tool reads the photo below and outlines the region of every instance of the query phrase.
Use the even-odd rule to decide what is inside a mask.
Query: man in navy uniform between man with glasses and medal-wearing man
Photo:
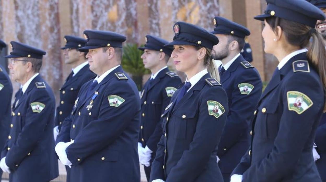
[[[79,48],[84,47],[86,40],[70,35],[66,35],[64,40],[66,45],[61,49],[64,50],[65,63],[71,65],[73,69],[60,89],[60,104],[56,109],[54,122],[54,139],[59,134],[62,121],[71,113],[78,91],[84,83],[95,77],[95,74],[89,70],[85,57],[87,52],[78,51]]]

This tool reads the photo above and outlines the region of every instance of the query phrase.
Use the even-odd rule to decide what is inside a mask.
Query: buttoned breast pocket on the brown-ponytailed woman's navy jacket
[[[259,107],[256,125],[260,126],[255,129],[255,133],[261,133],[262,137],[274,139],[279,128],[279,113],[277,113],[278,103],[274,101],[264,102]],[[260,130],[260,131],[259,131]]]

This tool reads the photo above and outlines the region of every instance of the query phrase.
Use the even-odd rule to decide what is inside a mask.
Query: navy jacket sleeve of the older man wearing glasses
[[[38,89],[30,95],[25,125],[6,155],[6,164],[11,169],[16,169],[16,164],[20,164],[27,153],[33,151],[37,143],[43,139],[41,136],[48,124],[47,118],[51,112],[54,112],[55,103],[45,89]],[[43,110],[34,112],[31,105],[34,102],[44,104]]]

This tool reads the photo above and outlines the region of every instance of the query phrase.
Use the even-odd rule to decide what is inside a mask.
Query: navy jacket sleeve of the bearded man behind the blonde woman
[[[254,86],[249,94],[240,91],[239,85],[247,83]],[[218,144],[217,156],[222,157],[230,147],[235,145],[247,133],[250,119],[254,116],[258,100],[261,96],[262,83],[258,73],[252,69],[245,69],[236,77],[231,96],[229,114]]]

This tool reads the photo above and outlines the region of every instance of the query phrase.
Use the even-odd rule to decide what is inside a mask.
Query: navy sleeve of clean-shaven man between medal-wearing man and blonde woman
[[[179,84],[181,83],[181,80],[179,77],[173,77],[171,81],[168,82],[165,88],[167,87],[174,87],[178,88]],[[170,104],[171,97],[168,97],[167,91],[162,91],[162,109],[159,117],[161,117],[161,114],[164,112],[165,108]],[[152,135],[148,138],[146,145],[151,149],[152,151],[156,151],[157,149],[157,143],[160,140],[160,137],[162,136],[162,119],[159,120],[156,124],[156,128]]]

